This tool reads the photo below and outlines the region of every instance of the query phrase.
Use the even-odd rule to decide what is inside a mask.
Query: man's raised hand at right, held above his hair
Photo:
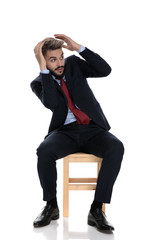
[[[78,51],[81,48],[81,45],[73,41],[71,38],[67,37],[64,34],[55,34],[55,38],[63,40],[67,45],[63,45],[64,48],[67,48],[70,51]]]

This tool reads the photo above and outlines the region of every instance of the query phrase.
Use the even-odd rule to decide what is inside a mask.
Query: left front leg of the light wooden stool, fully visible
[[[69,160],[63,159],[63,216],[69,216]]]

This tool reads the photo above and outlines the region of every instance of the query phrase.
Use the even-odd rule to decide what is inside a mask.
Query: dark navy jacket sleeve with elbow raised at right
[[[88,48],[81,52],[80,55],[85,59],[79,58],[79,66],[86,78],[106,77],[111,73],[109,64]]]

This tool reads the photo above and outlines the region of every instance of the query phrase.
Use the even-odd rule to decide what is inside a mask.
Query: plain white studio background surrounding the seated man
[[[61,234],[65,226],[63,218],[59,220],[62,229],[58,235],[49,227],[37,232],[32,228],[32,221],[44,205],[36,171],[36,148],[46,135],[51,118],[51,112],[30,89],[30,82],[39,74],[33,48],[38,41],[55,33],[64,33],[87,46],[112,67],[107,78],[89,79],[111,124],[111,132],[122,140],[126,149],[112,204],[106,206],[106,214],[116,231],[114,236],[105,237],[159,239],[159,12],[158,0],[1,3],[0,235],[3,239],[71,239],[66,232]],[[65,56],[73,54],[64,52]],[[62,167],[60,160],[61,217]],[[83,214],[86,221],[91,195],[71,193],[71,203],[74,201],[70,221],[74,219],[76,224]],[[77,226],[70,226],[76,231]],[[79,239],[103,237],[87,235]]]

